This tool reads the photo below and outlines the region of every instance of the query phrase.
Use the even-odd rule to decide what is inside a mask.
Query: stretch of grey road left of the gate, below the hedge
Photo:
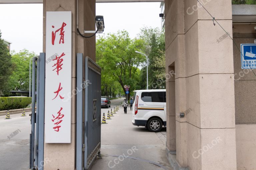
[[[8,120],[0,116],[0,170],[28,169],[30,113],[13,114]]]

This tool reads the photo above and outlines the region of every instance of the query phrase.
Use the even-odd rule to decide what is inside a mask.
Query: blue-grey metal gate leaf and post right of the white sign
[[[77,54],[76,119],[76,169],[87,170],[100,155],[101,68],[82,53]]]

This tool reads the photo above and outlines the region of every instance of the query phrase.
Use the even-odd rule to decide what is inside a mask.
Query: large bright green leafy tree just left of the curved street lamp
[[[107,86],[113,90],[114,81],[118,81],[124,93],[124,85],[131,86],[130,92],[138,87],[140,76],[138,67],[145,62],[145,57],[135,51],[144,51],[144,48],[144,41],[130,39],[127,31],[108,34],[97,40],[96,60],[102,68],[104,92]]]

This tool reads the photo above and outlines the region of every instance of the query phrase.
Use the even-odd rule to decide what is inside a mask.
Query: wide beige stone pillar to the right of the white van
[[[232,36],[231,0],[200,2]],[[217,42],[225,32],[197,0],[165,5],[166,65],[174,63],[176,73],[174,162],[190,170],[236,170],[233,42]]]

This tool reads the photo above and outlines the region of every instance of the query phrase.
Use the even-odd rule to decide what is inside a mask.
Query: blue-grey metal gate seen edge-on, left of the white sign
[[[32,113],[29,169],[43,170],[45,53],[32,60]],[[36,112],[35,112],[36,102]],[[40,132],[40,133],[39,133]]]

